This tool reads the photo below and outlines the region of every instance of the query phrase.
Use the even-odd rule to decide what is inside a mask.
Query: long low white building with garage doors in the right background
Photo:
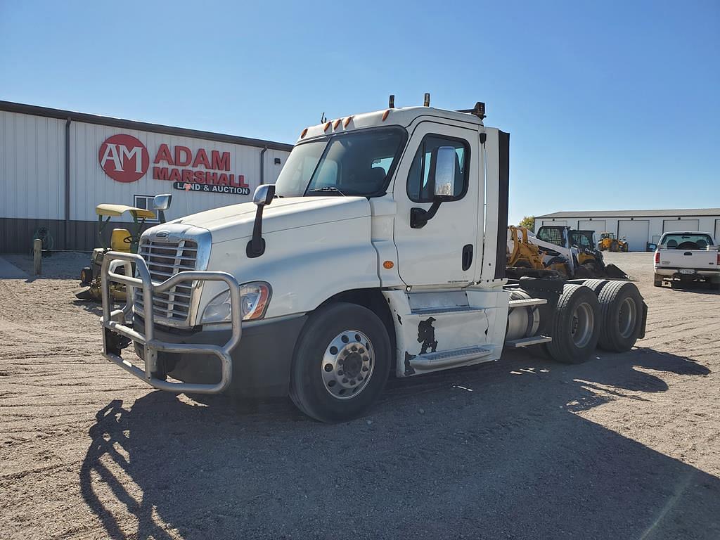
[[[657,243],[662,233],[678,230],[702,230],[720,241],[720,208],[684,210],[603,210],[600,212],[554,212],[535,218],[541,225],[567,225],[573,229],[615,233],[626,238],[630,251],[646,251],[648,243]]]

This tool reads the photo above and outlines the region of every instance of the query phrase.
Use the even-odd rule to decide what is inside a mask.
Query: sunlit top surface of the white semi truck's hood
[[[219,243],[253,234],[257,207],[252,202],[215,208],[183,217],[173,223],[209,230]],[[320,223],[369,217],[365,197],[283,197],[273,199],[263,210],[263,233],[307,227]]]

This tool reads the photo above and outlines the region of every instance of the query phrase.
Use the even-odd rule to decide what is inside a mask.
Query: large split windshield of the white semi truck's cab
[[[383,128],[330,135],[292,149],[276,183],[280,197],[384,194],[405,130]]]

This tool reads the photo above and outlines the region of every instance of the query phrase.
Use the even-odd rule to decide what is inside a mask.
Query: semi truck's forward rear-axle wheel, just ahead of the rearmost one
[[[600,305],[595,293],[584,285],[566,284],[549,330],[552,341],[546,346],[553,359],[563,364],[588,360],[600,338]]]

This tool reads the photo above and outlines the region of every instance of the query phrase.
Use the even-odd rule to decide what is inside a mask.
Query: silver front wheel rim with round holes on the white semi
[[[338,400],[350,400],[365,390],[375,366],[369,338],[359,330],[345,330],[325,348],[320,373],[323,386]]]

